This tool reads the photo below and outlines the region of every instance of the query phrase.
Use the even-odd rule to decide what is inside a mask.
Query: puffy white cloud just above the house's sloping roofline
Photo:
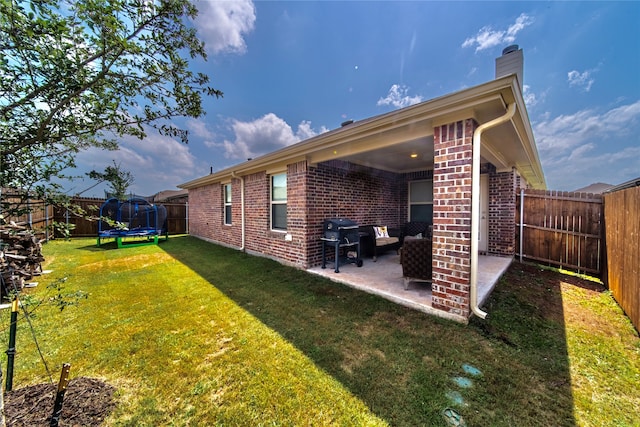
[[[273,113],[251,122],[234,120],[231,127],[235,140],[209,145],[222,147],[225,157],[235,159],[260,156],[327,131],[325,127],[315,131],[311,122],[302,121],[294,132],[287,122]]]

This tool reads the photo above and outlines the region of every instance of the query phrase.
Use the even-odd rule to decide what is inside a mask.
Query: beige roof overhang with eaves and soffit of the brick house
[[[542,165],[515,74],[347,124],[178,187],[197,188],[231,176],[284,170],[287,164],[303,160],[317,164],[342,159],[393,172],[432,169],[435,127],[469,118],[483,124],[505,114],[512,103],[516,104],[513,118],[483,133],[481,156],[498,171],[515,168],[533,188],[545,189]],[[408,160],[409,154],[416,151],[419,158]],[[409,165],[409,161],[413,163]]]

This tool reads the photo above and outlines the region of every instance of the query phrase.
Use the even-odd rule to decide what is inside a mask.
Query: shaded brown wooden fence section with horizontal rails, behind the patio
[[[520,190],[517,255],[579,273],[601,276],[604,265],[602,196]]]

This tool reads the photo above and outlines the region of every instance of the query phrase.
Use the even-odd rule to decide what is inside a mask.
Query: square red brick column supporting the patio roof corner
[[[433,285],[434,308],[470,315],[471,167],[473,131],[467,119],[434,129]]]

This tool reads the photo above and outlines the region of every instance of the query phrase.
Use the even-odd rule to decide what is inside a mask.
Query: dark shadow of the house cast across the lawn
[[[484,307],[489,318],[460,325],[192,237],[160,248],[390,425],[447,425],[447,407],[468,425],[575,425],[558,273],[514,264]]]

